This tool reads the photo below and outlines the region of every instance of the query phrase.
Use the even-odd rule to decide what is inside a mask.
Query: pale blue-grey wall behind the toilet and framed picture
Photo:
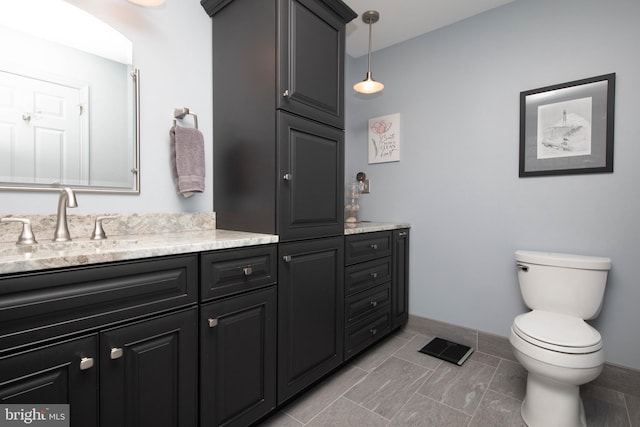
[[[640,369],[639,22],[637,0],[519,0],[375,52],[368,99],[350,90],[366,56],[348,58],[346,177],[371,178],[364,219],[413,225],[412,314],[508,336],[514,250],[609,256],[592,324]],[[520,92],[612,72],[614,173],[518,178]],[[401,161],[368,165],[367,119],[391,113]]]

